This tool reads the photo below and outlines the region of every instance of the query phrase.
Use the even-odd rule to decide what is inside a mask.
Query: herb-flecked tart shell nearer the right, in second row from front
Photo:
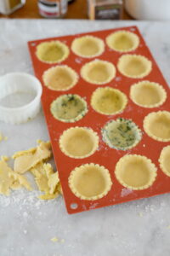
[[[118,118],[109,121],[102,129],[103,140],[110,148],[127,150],[134,148],[142,138],[142,132],[131,119]]]

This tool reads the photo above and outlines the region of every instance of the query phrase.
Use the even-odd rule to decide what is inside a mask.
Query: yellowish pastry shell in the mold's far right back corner
[[[119,52],[128,52],[139,47],[139,37],[133,32],[121,30],[111,33],[106,38],[106,44]]]

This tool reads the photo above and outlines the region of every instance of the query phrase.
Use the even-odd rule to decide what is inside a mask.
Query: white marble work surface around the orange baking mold
[[[170,83],[170,23],[83,20],[0,20],[0,75],[32,73],[26,42],[116,26],[139,26]],[[48,139],[43,114],[24,125],[5,125],[8,141],[0,154],[30,148]],[[37,192],[0,196],[0,256],[169,256],[170,195],[68,215],[64,201],[38,201]],[[64,242],[53,242],[57,236]]]

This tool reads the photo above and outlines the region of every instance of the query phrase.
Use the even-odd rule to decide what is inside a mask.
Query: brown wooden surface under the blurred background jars
[[[0,0],[1,1],[1,0]],[[27,0],[26,5],[15,11],[12,15],[0,15],[0,18],[11,19],[40,19],[41,15],[38,13],[37,0]],[[69,4],[68,12],[65,19],[88,19],[87,15],[87,1],[77,0]],[[133,20],[126,11],[123,11],[123,20]]]

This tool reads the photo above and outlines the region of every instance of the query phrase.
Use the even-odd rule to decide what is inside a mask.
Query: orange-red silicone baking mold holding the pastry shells
[[[144,79],[129,79],[123,76],[116,68],[116,77],[110,83],[104,85],[95,85],[88,84],[84,79],[80,76],[80,69],[82,65],[87,63],[88,61],[92,61],[94,59],[110,61],[115,67],[117,65],[117,61],[123,53],[116,52],[105,44],[105,52],[102,55],[94,58],[82,58],[75,55],[71,51],[71,42],[74,38],[80,37],[82,35],[93,35],[95,37],[101,38],[105,42],[105,38],[111,34],[111,32],[116,32],[120,30],[126,30],[133,33],[136,33],[139,36],[139,47],[129,54],[136,55],[144,55],[152,62],[152,71],[149,75],[144,77]],[[67,65],[73,68],[79,74],[79,80],[76,86],[71,88],[70,90],[65,91],[54,91],[48,89],[48,87],[44,86],[42,82],[42,74],[49,67],[54,67],[59,64],[48,64],[37,59],[36,49],[37,45],[42,42],[48,42],[51,40],[59,40],[66,44],[70,48],[70,55],[65,60],[59,64]],[[111,206],[115,204],[119,204],[126,201],[133,201],[137,199],[141,199],[144,197],[150,197],[153,195],[164,194],[170,192],[170,177],[167,177],[160,169],[158,159],[161,154],[161,149],[167,146],[169,143],[161,143],[149,137],[143,128],[143,119],[144,117],[154,111],[158,110],[167,110],[170,111],[170,90],[168,88],[167,82],[163,78],[159,67],[156,65],[156,61],[153,56],[150,54],[150,50],[146,46],[144,39],[142,38],[138,28],[136,26],[123,27],[118,29],[110,29],[105,31],[98,32],[89,32],[71,36],[64,36],[58,38],[45,38],[42,40],[31,41],[28,43],[29,50],[31,54],[31,60],[34,67],[35,74],[38,79],[42,82],[42,108],[45,114],[46,122],[48,125],[48,132],[51,138],[51,143],[54,152],[54,159],[57,166],[57,170],[59,172],[59,178],[63,189],[63,194],[65,197],[65,205],[67,211],[69,213],[82,212],[98,207]],[[129,98],[130,86],[142,80],[150,80],[151,82],[159,83],[163,86],[163,88],[167,92],[167,101],[164,102],[159,108],[141,108],[138,105],[134,104],[132,100]],[[98,87],[111,86],[112,88],[116,88],[121,90],[127,95],[127,108],[124,109],[122,113],[118,113],[116,115],[104,115],[94,111],[94,109],[90,106],[90,98],[94,90]],[[78,94],[82,96],[86,102],[88,103],[88,113],[79,121],[75,123],[64,123],[57,119],[54,119],[52,113],[50,112],[50,104],[60,95],[64,94]],[[105,142],[102,140],[101,129],[104,125],[111,119],[117,119],[118,117],[122,117],[125,119],[133,119],[133,122],[139,126],[139,129],[143,132],[142,140],[139,144],[127,151],[116,150],[114,148],[109,148]],[[86,126],[91,127],[94,131],[96,131],[99,135],[99,149],[91,156],[84,159],[73,159],[65,154],[63,154],[59,148],[59,137],[68,128],[75,126]],[[149,188],[144,190],[130,190],[123,187],[115,177],[115,166],[117,161],[125,154],[142,154],[148,157],[157,167],[157,177],[155,183]],[[100,166],[105,166],[106,169],[109,170],[112,179],[112,187],[111,190],[105,197],[96,200],[96,201],[85,201],[79,199],[76,195],[71,192],[71,189],[68,185],[68,177],[73,169],[77,166],[81,166],[87,163],[96,163]]]

